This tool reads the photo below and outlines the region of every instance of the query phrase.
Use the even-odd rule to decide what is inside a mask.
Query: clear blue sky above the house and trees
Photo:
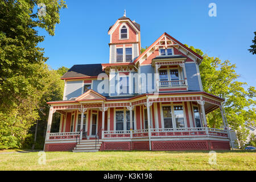
[[[256,31],[256,1],[82,1],[67,0],[55,36],[43,30],[47,64],[53,69],[109,62],[108,28],[123,16],[141,24],[142,47],[164,32],[209,56],[237,65],[240,81],[256,87],[256,55],[247,51]],[[210,17],[209,3],[217,17]]]

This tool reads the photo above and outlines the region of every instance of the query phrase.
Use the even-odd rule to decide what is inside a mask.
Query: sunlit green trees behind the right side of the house
[[[237,80],[240,75],[236,73],[236,64],[231,64],[229,60],[221,61],[218,57],[204,55],[200,49],[192,46],[189,48],[203,56],[199,67],[203,89],[207,93],[225,99],[224,107],[229,126],[238,129],[245,121],[255,125],[253,121],[256,120],[254,100],[256,90],[253,86],[246,90],[246,82]],[[207,121],[210,127],[220,128],[223,123],[220,109],[207,114]]]

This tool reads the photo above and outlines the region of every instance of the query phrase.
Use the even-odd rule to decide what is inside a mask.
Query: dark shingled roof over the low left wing
[[[98,76],[102,71],[101,64],[76,64],[71,67],[61,78]]]

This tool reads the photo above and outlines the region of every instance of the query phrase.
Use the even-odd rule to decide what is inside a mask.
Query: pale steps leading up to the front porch
[[[81,140],[80,143],[77,143],[77,146],[74,148],[73,152],[97,152],[100,150],[102,140]]]

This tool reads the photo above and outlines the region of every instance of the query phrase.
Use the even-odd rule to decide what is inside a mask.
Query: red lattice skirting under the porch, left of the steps
[[[76,143],[47,143],[44,151],[71,151]]]

